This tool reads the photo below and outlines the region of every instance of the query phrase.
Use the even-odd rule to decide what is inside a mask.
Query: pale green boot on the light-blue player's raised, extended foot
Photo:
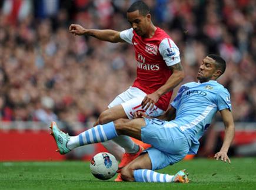
[[[66,134],[61,130],[59,130],[58,126],[54,121],[52,121],[50,128],[51,128],[50,134],[52,135],[52,137],[54,137],[54,140],[58,147],[56,152],[59,152],[60,154],[67,154],[69,151],[71,151],[67,147],[67,143],[70,139],[69,134]]]

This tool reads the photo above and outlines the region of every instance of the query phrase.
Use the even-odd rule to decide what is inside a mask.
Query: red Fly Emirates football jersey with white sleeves
[[[172,72],[168,66],[180,62],[179,49],[164,30],[157,28],[152,38],[142,38],[131,28],[120,33],[120,37],[134,45],[137,60],[137,77],[132,86],[151,94],[163,86]],[[167,110],[172,91],[162,95],[155,104]]]

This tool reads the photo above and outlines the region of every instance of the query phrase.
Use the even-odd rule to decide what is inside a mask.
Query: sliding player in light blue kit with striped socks
[[[117,121],[97,125],[83,133],[69,137],[51,124],[58,151],[65,154],[81,145],[107,141],[118,135],[129,135],[151,144],[122,168],[124,181],[137,182],[188,182],[184,170],[175,175],[155,172],[182,160],[187,154],[197,154],[199,139],[209,127],[212,118],[220,111],[225,125],[225,137],[221,150],[215,154],[230,163],[227,152],[234,138],[234,121],[231,114],[230,93],[216,80],[225,72],[225,60],[217,55],[208,55],[198,70],[198,82],[182,85],[168,111],[159,118],[147,118],[137,113],[133,120]]]

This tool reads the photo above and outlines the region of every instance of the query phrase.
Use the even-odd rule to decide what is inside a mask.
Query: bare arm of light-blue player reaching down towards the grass
[[[235,135],[235,125],[234,125],[234,120],[232,113],[229,109],[224,109],[221,110],[221,117],[225,125],[225,137],[224,141],[221,147],[220,152],[217,152],[214,155],[214,158],[218,160],[221,158],[222,161],[229,162],[230,163],[230,158],[228,158],[228,148],[230,148],[230,145],[232,143],[232,140],[234,139]]]

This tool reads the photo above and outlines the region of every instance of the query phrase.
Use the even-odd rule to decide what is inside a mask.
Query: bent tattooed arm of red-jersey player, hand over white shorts
[[[159,97],[174,89],[184,79],[184,71],[181,62],[169,66],[169,69],[172,70],[172,75],[169,77],[167,82],[154,93],[145,96],[144,100],[142,100],[141,105],[142,108],[145,107],[145,110],[147,110],[149,107],[152,109],[155,103],[157,103]]]

